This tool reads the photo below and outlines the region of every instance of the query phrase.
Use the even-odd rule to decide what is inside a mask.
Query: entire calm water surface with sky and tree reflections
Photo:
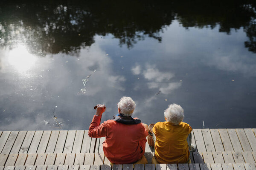
[[[0,1],[0,130],[88,129],[122,96],[147,124],[177,103],[193,128],[255,127],[256,3]]]

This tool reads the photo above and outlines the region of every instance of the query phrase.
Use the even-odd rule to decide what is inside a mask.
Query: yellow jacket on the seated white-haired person
[[[180,122],[157,122],[153,127],[156,136],[154,157],[158,163],[186,163],[189,160],[189,146],[186,141],[192,128]]]

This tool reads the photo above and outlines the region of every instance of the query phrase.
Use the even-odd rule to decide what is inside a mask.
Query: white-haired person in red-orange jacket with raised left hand
[[[111,164],[146,164],[144,153],[148,126],[131,117],[136,106],[131,97],[123,96],[117,105],[118,114],[101,125],[101,116],[106,108],[105,105],[97,105],[88,135],[93,138],[106,136],[103,151]]]

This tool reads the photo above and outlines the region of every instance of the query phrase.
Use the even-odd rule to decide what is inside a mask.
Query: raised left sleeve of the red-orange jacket
[[[88,135],[92,138],[100,138],[106,136],[107,126],[105,122],[99,125],[100,118],[101,116],[93,116],[93,120],[88,130]]]

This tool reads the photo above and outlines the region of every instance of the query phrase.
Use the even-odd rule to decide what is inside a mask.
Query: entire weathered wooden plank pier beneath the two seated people
[[[0,170],[256,170],[256,129],[194,129],[192,164],[113,165],[88,130],[0,131]]]

